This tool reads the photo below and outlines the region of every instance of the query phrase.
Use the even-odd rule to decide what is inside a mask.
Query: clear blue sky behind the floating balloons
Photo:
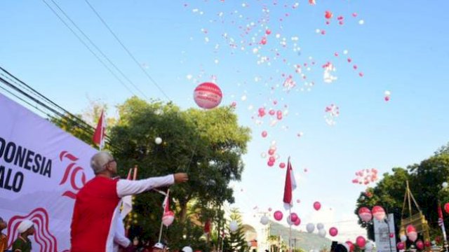
[[[167,100],[84,1],[55,1],[147,97]],[[299,5],[292,8],[296,2]],[[311,207],[316,200],[323,209],[333,209],[333,219],[323,222],[355,217],[354,203],[364,187],[351,183],[354,172],[377,168],[382,174],[391,167],[406,167],[449,141],[448,1],[316,0],[316,6],[304,0],[91,3],[175,104],[196,107],[194,87],[210,76],[217,77],[224,92],[222,104],[236,102],[241,124],[253,130],[243,158],[243,180],[236,185],[236,207],[245,213],[252,214],[256,205],[261,210],[282,208],[285,171],[279,162],[267,167],[267,158],[260,157],[273,140],[283,162],[289,155],[293,158],[300,177],[294,195],[301,200],[295,211],[304,224],[317,221]],[[269,20],[261,24],[258,21],[267,14],[263,5]],[[334,14],[330,25],[325,24],[326,10]],[[0,65],[65,109],[81,113],[89,99],[112,108],[133,94],[143,98],[107,72],[43,1],[4,1],[0,14]],[[339,15],[344,25],[337,24]],[[255,26],[245,34],[239,27],[251,22]],[[260,45],[265,27],[272,34]],[[237,48],[229,46],[231,38]],[[275,59],[276,50],[280,57]],[[269,57],[271,65],[257,64],[258,55]],[[333,83],[323,82],[321,66],[328,61],[337,70]],[[294,72],[294,64],[302,64],[306,80],[314,81],[310,91]],[[282,86],[283,73],[297,81],[290,92],[276,87]],[[389,102],[384,102],[386,90],[391,92]],[[340,107],[334,126],[323,118],[330,104]],[[262,125],[251,118],[257,118],[261,106],[284,111],[284,105],[288,115],[274,127],[267,117]],[[113,115],[111,109],[109,116]],[[263,130],[269,134],[265,139],[260,136]],[[299,138],[298,132],[304,135]],[[306,167],[309,172],[304,173]],[[335,226],[344,234],[340,239],[356,235],[349,225]]]

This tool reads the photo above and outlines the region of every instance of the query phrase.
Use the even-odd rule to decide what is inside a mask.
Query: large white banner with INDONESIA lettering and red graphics
[[[0,94],[0,216],[8,245],[24,219],[34,222],[33,251],[70,248],[74,196],[93,172],[96,150]]]

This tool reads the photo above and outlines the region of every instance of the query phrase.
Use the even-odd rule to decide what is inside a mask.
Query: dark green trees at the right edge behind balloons
[[[422,214],[429,222],[431,236],[439,234],[438,227],[438,201],[449,201],[449,190],[442,190],[441,184],[449,180],[449,154],[444,152],[423,160],[420,164],[410,165],[407,169],[394,168],[393,174],[384,174],[384,178],[377,183],[374,188],[370,188],[368,193],[372,197],[367,197],[366,193],[361,193],[356,202],[355,214],[358,214],[360,207],[372,208],[375,205],[384,207],[387,213],[394,214],[396,232],[400,228],[401,218],[410,216],[409,211],[403,211],[404,195],[406,193],[406,181],[409,181],[410,191],[413,193],[417,204],[422,210]],[[417,213],[413,204],[412,214]],[[368,237],[374,239],[373,225],[371,223],[359,224],[367,228]]]

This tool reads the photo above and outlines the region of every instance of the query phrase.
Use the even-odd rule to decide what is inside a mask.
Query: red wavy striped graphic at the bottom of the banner
[[[13,216],[8,222],[8,246],[13,245],[13,241],[20,235],[17,231],[18,226],[24,220],[34,223],[34,241],[40,246],[41,252],[58,252],[58,241],[50,230],[48,230],[48,213],[43,208],[36,208],[27,216]]]

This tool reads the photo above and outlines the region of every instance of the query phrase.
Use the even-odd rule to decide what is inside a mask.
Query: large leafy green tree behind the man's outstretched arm
[[[124,168],[121,175],[125,176],[128,168],[135,165],[142,178],[187,172],[189,183],[170,188],[172,210],[177,217],[168,232],[164,232],[164,239],[170,240],[173,248],[185,245],[177,244],[181,240],[175,239],[175,235],[199,240],[201,223],[210,217],[222,218],[219,206],[225,201],[234,202],[229,182],[241,179],[241,155],[246,153],[250,130],[238,125],[231,107],[181,111],[172,103],[145,102],[133,97],[118,109],[119,120],[110,130],[110,141],[120,146],[114,156]],[[155,143],[156,137],[163,140],[161,144]],[[162,201],[163,195],[158,193],[146,193],[135,199],[138,223],[147,237],[159,235]],[[193,206],[189,202],[195,203],[193,225],[197,228],[189,229],[192,222],[189,206]]]

